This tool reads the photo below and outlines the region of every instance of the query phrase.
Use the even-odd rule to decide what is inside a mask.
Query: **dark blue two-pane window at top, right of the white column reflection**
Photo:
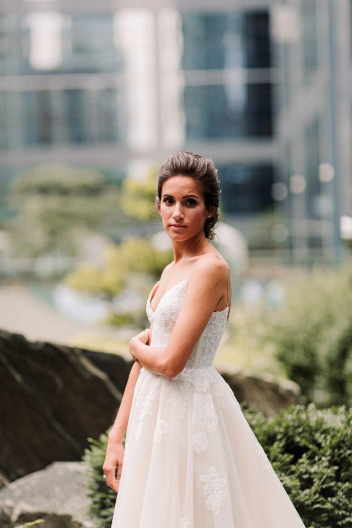
[[[245,73],[269,71],[268,11],[183,13],[182,32],[186,138],[271,137],[271,82],[249,82]],[[237,78],[236,70],[242,72]]]

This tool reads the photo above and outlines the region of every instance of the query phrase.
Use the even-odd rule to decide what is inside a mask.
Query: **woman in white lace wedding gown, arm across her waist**
[[[136,361],[102,467],[117,492],[111,528],[305,528],[213,366],[231,300],[229,266],[210,244],[217,170],[180,152],[157,187],[174,261],[150,291],[150,328],[130,340]]]

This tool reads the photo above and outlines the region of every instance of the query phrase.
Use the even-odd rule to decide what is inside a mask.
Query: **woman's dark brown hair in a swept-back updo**
[[[200,154],[192,152],[178,152],[168,156],[163,165],[161,165],[157,180],[158,195],[155,199],[156,206],[160,208],[161,189],[164,182],[173,176],[189,176],[198,182],[202,191],[205,207],[210,210],[215,207],[216,210],[211,218],[207,218],[204,224],[204,234],[207,239],[212,240],[215,237],[213,230],[218,221],[218,207],[220,205],[220,181],[211,158],[206,158]]]

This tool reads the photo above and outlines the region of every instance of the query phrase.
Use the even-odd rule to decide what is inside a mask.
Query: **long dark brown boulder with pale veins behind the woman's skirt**
[[[0,487],[53,461],[81,460],[88,438],[115,420],[132,364],[0,331]],[[302,401],[296,383],[214,366],[237,400],[266,416]]]

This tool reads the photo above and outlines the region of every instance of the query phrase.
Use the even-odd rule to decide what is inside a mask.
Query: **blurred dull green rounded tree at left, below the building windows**
[[[74,256],[81,237],[104,231],[116,214],[119,190],[93,169],[55,163],[19,174],[9,200],[17,211],[8,226],[17,255]]]

